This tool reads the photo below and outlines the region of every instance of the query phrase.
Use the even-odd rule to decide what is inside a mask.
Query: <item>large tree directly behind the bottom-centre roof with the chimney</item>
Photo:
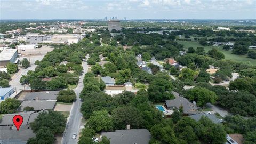
[[[126,125],[131,125],[132,129],[141,126],[142,117],[140,111],[132,106],[118,107],[112,111],[115,129],[125,129]]]

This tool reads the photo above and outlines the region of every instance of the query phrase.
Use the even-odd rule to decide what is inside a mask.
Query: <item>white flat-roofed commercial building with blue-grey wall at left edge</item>
[[[16,63],[18,60],[16,59],[18,55],[17,49],[5,49],[0,52],[0,67],[6,66],[7,63],[12,62]]]

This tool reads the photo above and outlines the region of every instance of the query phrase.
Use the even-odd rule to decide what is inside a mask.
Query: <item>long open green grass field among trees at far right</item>
[[[187,49],[188,47],[194,47],[194,49],[196,49],[196,47],[200,47],[201,46],[201,47],[204,47],[204,50],[206,52],[208,52],[212,48],[216,48],[217,50],[221,51],[225,55],[225,59],[227,59],[227,60],[234,60],[234,61],[237,61],[237,62],[250,61],[252,63],[252,65],[256,66],[256,59],[247,58],[246,55],[235,55],[235,54],[232,54],[232,51],[225,51],[225,50],[223,50],[222,46],[202,46],[201,44],[199,44],[199,42],[191,42],[191,41],[178,41],[178,43],[179,44],[183,44],[185,49]]]

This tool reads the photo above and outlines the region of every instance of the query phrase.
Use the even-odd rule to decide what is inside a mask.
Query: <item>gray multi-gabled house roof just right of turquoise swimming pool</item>
[[[200,113],[198,110],[198,107],[191,103],[188,99],[182,97],[177,92],[172,92],[175,96],[175,99],[173,100],[166,100],[166,106],[167,107],[175,107],[180,108],[180,106],[183,106],[183,113],[185,114],[195,114]]]

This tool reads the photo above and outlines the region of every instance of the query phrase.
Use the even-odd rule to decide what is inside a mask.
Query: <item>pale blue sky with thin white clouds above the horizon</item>
[[[256,0],[0,0],[0,19],[256,19]]]

